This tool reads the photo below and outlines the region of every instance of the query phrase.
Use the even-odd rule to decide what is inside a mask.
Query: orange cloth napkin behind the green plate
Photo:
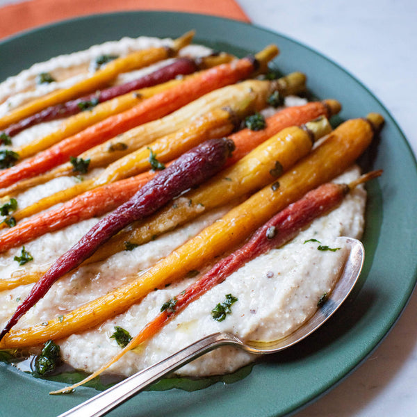
[[[234,0],[29,0],[0,8],[0,39],[58,20],[126,10],[168,10],[249,22]]]

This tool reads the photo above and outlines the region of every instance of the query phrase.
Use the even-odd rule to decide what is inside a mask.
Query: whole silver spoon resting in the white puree
[[[139,393],[150,384],[216,347],[232,345],[253,354],[270,354],[277,353],[302,341],[302,339],[318,329],[318,327],[320,327],[330,316],[332,316],[338,307],[341,306],[347,295],[352,291],[352,288],[359,277],[364,258],[363,245],[359,240],[352,238],[345,239],[347,243],[350,244],[350,254],[345,263],[342,275],[338,279],[332,293],[327,298],[325,304],[320,307],[316,313],[302,325],[302,327],[299,327],[286,338],[270,343],[255,344],[244,343],[243,341],[240,341],[238,337],[229,333],[210,334],[185,347],[183,350],[172,354],[172,356],[167,357],[167,359],[163,359],[163,361],[160,361],[153,366],[149,366],[149,368],[141,370],[135,375],[124,379],[119,384],[95,395],[95,397],[90,398],[90,400],[79,404],[64,414],[60,414],[58,417],[104,416],[104,414],[107,414],[109,411],[122,404],[122,402],[129,400],[129,398]]]

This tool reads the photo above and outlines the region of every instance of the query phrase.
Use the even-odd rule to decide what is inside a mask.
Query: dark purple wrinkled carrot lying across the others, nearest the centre
[[[47,293],[57,279],[88,259],[100,245],[129,223],[146,218],[176,195],[199,185],[219,172],[233,149],[234,143],[229,139],[207,140],[183,154],[165,170],[158,172],[158,175],[128,202],[99,220],[78,243],[60,256],[42,279],[33,286],[31,293],[22,304],[19,304],[15,314],[1,332],[0,340],[19,318]]]

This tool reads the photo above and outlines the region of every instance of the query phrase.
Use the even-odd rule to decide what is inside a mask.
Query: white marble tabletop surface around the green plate
[[[21,0],[0,0],[0,6]],[[203,1],[203,0],[200,0]],[[416,0],[238,0],[252,22],[351,72],[388,108],[417,154]],[[375,68],[377,71],[375,72]],[[296,417],[417,416],[417,293],[363,365]]]

